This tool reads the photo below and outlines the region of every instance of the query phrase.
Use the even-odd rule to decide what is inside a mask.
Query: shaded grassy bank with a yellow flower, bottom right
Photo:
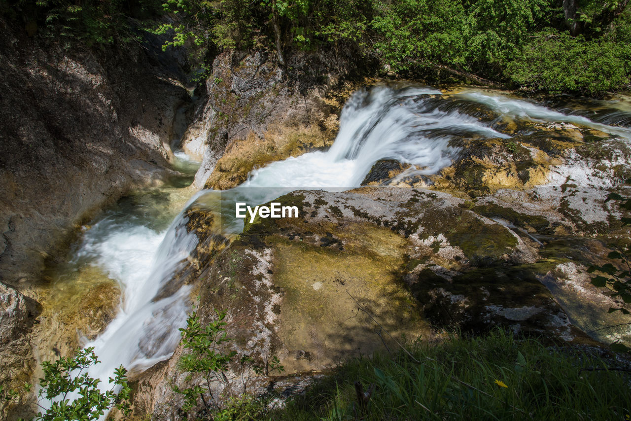
[[[351,359],[275,420],[612,420],[631,413],[628,373],[575,348],[501,330]],[[366,410],[355,382],[376,387]]]

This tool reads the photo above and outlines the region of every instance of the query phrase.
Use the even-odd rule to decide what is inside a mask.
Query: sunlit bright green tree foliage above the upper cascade
[[[569,35],[560,3],[551,0],[169,0],[163,7],[179,14],[179,23],[155,31],[174,34],[165,48],[189,42],[272,50],[280,35],[281,49],[341,45],[416,77],[473,74],[591,95],[624,88],[629,13],[618,13],[616,2],[580,6],[577,16],[590,25],[580,37]]]

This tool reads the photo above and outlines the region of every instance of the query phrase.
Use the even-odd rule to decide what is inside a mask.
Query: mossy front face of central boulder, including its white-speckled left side
[[[288,372],[309,371],[382,348],[375,321],[399,340],[428,333],[399,282],[411,247],[400,235],[370,223],[256,225],[218,258],[200,302],[204,314],[228,310],[228,335],[242,352],[278,355]]]

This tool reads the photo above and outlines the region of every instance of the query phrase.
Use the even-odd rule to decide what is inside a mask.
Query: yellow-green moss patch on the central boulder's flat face
[[[317,237],[333,227],[322,225]],[[335,235],[342,250],[282,235],[268,239],[275,256],[274,283],[283,290],[279,335],[290,352],[310,352],[326,364],[380,348],[374,322],[357,311],[350,295],[399,340],[427,332],[415,300],[399,283],[406,241],[369,223],[347,224]],[[306,369],[308,364],[296,360],[289,367]]]

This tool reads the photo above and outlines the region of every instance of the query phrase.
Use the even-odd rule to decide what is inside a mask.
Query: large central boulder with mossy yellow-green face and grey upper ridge
[[[454,256],[454,268],[462,268],[528,255],[517,235],[444,193],[363,187],[274,201],[298,206],[300,217],[245,223],[202,270],[199,314],[227,310],[233,349],[260,359],[278,355],[289,371],[371,353],[382,340],[390,345],[375,334],[377,322],[399,340],[427,335],[403,282],[406,268]]]

